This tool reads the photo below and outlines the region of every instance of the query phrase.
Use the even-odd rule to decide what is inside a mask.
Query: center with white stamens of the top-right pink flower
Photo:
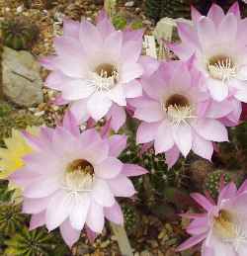
[[[212,78],[225,82],[236,76],[237,67],[231,57],[216,55],[209,58],[207,70]]]

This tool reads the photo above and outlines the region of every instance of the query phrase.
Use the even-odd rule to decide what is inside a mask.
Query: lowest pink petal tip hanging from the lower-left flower
[[[65,243],[71,248],[80,238],[81,231],[72,228],[68,219],[60,225],[60,232]]]

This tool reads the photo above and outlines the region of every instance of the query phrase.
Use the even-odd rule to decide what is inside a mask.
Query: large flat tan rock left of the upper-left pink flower
[[[3,50],[3,93],[13,103],[31,107],[42,102],[40,65],[28,51]]]

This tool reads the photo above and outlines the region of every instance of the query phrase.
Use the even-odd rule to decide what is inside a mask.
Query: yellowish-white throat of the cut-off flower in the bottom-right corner
[[[221,210],[214,217],[213,230],[223,242],[231,243],[236,252],[242,243],[247,246],[247,232],[234,214]]]

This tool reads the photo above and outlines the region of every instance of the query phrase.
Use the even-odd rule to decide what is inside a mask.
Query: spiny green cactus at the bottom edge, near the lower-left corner
[[[6,241],[5,254],[9,256],[51,256],[54,237],[44,228],[30,231],[26,226]]]

